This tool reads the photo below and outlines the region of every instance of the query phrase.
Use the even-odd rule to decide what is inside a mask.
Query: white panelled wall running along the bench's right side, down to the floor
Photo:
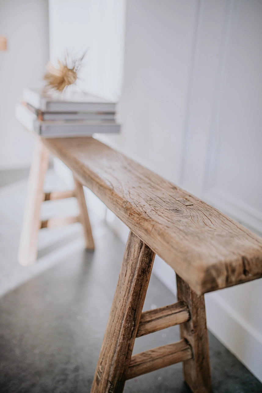
[[[260,234],[261,17],[256,0],[127,1],[122,132],[101,137]],[[154,269],[175,292],[170,269]],[[209,329],[262,380],[261,280],[205,298]]]

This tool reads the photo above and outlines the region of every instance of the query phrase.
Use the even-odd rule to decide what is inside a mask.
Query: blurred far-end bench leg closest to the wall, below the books
[[[84,232],[84,241],[86,244],[87,250],[94,250],[95,244],[93,241],[92,229],[89,221],[88,211],[86,207],[86,199],[84,197],[84,190],[82,184],[77,180],[75,176],[74,183],[75,183],[75,196],[77,198],[78,208],[79,208],[79,218],[82,224],[83,232]]]

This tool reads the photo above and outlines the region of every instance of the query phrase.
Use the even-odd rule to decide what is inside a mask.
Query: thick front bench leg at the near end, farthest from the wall
[[[123,391],[154,257],[130,232],[91,393]]]

